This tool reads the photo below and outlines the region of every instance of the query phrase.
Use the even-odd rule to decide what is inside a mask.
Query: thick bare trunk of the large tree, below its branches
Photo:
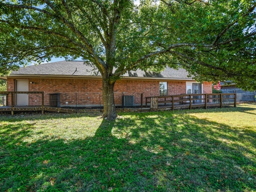
[[[114,102],[114,84],[115,82],[109,82],[108,80],[102,81],[102,96],[103,96],[103,118],[108,120],[114,120],[117,117],[116,106]]]

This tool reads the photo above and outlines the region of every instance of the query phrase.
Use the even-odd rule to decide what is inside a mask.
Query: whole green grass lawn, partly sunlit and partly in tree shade
[[[256,191],[256,104],[0,115],[0,191]]]

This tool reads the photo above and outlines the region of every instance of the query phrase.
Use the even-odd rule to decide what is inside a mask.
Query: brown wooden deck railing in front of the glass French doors
[[[149,105],[150,104],[150,105]],[[159,107],[169,107],[174,109],[185,108],[208,108],[224,107],[234,105],[236,107],[236,94],[181,94],[169,96],[146,97],[146,108],[158,109]]]

